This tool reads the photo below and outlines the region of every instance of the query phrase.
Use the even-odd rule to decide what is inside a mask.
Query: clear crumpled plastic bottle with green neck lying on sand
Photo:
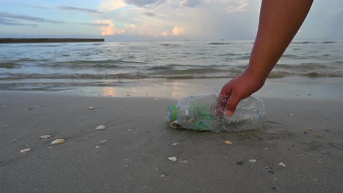
[[[170,105],[168,118],[198,131],[242,131],[262,126],[266,112],[261,99],[250,96],[241,100],[231,116],[225,114],[227,99],[216,93],[191,95],[180,99],[177,105]]]

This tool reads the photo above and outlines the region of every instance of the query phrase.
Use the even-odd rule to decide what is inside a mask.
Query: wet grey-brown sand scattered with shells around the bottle
[[[262,99],[263,128],[214,133],[169,128],[171,99],[0,91],[0,192],[341,192],[343,101]]]

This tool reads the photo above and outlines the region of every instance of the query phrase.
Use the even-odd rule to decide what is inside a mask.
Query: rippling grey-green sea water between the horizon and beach
[[[103,95],[105,92],[99,94],[99,89],[105,87],[132,90],[138,85],[146,90],[151,88],[147,87],[149,84],[162,83],[167,87],[175,83],[179,87],[186,83],[192,83],[186,87],[201,87],[221,80],[220,84],[247,68],[253,43],[218,40],[0,44],[0,90],[81,90]],[[322,82],[341,78],[343,40],[293,40],[268,80]],[[114,95],[130,92],[118,93]]]

